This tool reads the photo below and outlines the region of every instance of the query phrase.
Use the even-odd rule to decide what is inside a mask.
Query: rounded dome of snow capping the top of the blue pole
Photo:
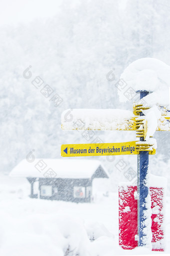
[[[123,71],[120,79],[123,79],[127,86],[134,91],[146,90],[155,92],[147,97],[151,98],[152,103],[169,104],[170,66],[164,62],[154,58],[138,59]],[[118,87],[118,95],[121,102],[127,101],[127,97],[123,94],[120,85]],[[150,102],[148,101],[148,103]]]

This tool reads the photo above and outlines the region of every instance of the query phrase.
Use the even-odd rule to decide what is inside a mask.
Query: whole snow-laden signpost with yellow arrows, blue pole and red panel
[[[149,92],[158,87],[158,78],[163,83],[170,80],[167,71],[169,74],[170,67],[151,58],[137,60],[125,69],[119,96],[125,96],[124,88],[125,92],[132,89],[140,93],[133,113],[120,109],[67,109],[61,117],[63,130],[136,131],[140,138],[126,143],[61,145],[62,157],[137,155],[137,186],[119,187],[119,244],[124,249],[138,245],[163,250],[163,187],[148,182],[148,156],[155,154],[154,132],[170,131],[170,115],[157,104],[156,94]]]

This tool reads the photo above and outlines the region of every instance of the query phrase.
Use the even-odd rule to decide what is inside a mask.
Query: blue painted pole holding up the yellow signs
[[[140,92],[140,99],[142,99],[144,96],[146,96],[149,92],[148,91],[139,91]],[[140,116],[143,115],[143,113],[140,113]],[[143,138],[140,138],[140,141],[144,141]],[[143,246],[145,243],[143,242],[143,238],[145,234],[143,233],[143,228],[145,227],[143,225],[143,221],[145,220],[144,216],[144,210],[146,210],[145,207],[145,198],[148,195],[148,187],[146,185],[146,175],[148,170],[148,152],[147,151],[140,151],[138,156],[138,175],[137,175],[137,191],[139,195],[138,200],[138,213],[137,213],[137,219],[138,219],[138,246]]]

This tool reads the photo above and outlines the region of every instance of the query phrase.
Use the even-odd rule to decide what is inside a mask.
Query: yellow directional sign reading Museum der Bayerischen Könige
[[[137,155],[136,142],[65,144],[61,145],[61,157],[87,157],[112,155]],[[154,154],[155,152],[150,152]]]

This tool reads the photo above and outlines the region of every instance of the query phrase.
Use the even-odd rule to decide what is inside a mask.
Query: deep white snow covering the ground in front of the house
[[[96,195],[97,186],[93,184]],[[170,198],[166,202],[166,250],[118,246],[118,195],[100,193],[92,203],[31,199],[24,178],[0,175],[0,255],[112,256],[170,252]],[[90,239],[90,240],[89,240]]]

